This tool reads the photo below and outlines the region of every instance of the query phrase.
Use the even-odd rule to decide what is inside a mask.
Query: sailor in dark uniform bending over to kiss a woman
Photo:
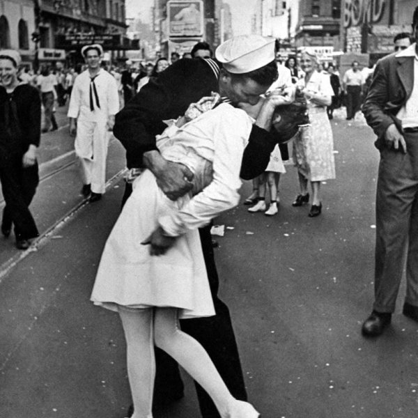
[[[254,48],[254,53],[266,42],[258,36],[234,38],[226,41],[228,43],[225,42],[226,46],[229,45],[231,54],[236,54],[238,41],[240,41],[240,51],[242,46],[246,45],[247,48]],[[256,65],[263,65],[263,62],[255,62]],[[225,66],[228,67],[228,62]],[[248,76],[256,77],[256,73],[256,71],[249,72]],[[155,146],[155,134],[160,134],[164,129],[162,120],[177,118],[184,114],[190,103],[210,95],[211,91],[219,91],[235,103],[244,101],[256,104],[258,86],[256,79],[235,77],[222,69],[219,62],[212,59],[181,59],[173,63],[160,74],[158,80],[151,78],[131,102],[116,115],[114,134],[127,150],[127,167],[129,169],[148,167],[155,174],[157,184],[164,194],[171,199],[183,196],[192,186],[189,181],[192,173],[182,164],[164,160],[158,152]],[[264,110],[265,112],[258,117],[252,127],[249,144],[242,159],[240,174],[247,180],[263,173],[276,144],[274,136],[266,130],[270,129],[274,108],[265,107]],[[127,183],[124,200],[131,191],[132,185]],[[247,399],[245,382],[229,309],[217,295],[219,279],[210,229],[207,226],[203,227],[199,233],[216,316],[181,320],[180,325],[183,331],[197,339],[208,351],[233,396],[245,401]],[[178,368],[175,362],[160,350],[156,350],[156,355],[155,398],[162,399],[166,403],[174,401],[183,396],[183,383]],[[203,417],[219,417],[215,405],[206,392],[199,385],[196,389]]]

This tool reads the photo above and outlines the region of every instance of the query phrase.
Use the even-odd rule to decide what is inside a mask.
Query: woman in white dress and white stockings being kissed
[[[171,201],[148,170],[134,180],[104,247],[91,300],[121,316],[132,417],[152,417],[155,344],[206,389],[221,417],[256,418],[252,405],[233,398],[206,350],[178,329],[179,318],[215,315],[198,228],[238,204],[252,119],[222,103],[184,125],[180,121],[184,117],[157,137],[157,147],[166,160],[194,173],[192,196]],[[212,181],[205,184],[208,171]]]

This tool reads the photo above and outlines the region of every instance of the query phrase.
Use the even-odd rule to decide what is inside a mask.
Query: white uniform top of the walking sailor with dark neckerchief
[[[102,68],[98,76],[94,79],[98,92],[100,109],[97,106],[93,93],[94,110],[90,109],[90,84],[91,77],[88,70],[76,77],[72,87],[70,106],[68,107],[69,118],[79,118],[83,121],[107,121],[110,115],[115,115],[119,111],[119,96],[116,80],[109,72]]]

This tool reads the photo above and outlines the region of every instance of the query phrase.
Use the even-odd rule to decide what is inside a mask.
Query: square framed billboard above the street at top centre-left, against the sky
[[[203,36],[203,1],[169,0],[169,37]]]

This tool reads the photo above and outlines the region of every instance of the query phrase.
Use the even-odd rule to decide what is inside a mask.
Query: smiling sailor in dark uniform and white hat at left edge
[[[40,97],[17,79],[20,63],[17,51],[0,51],[0,181],[6,201],[1,233],[7,238],[13,224],[16,247],[27,249],[39,235],[29,205],[39,183]]]

